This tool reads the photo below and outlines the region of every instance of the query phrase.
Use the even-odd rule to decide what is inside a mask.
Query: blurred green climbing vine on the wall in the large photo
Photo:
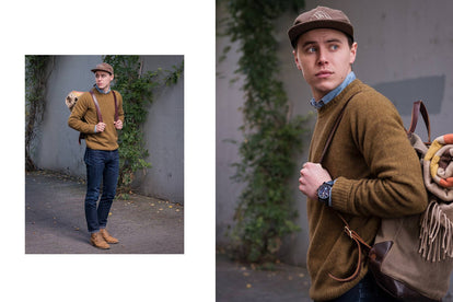
[[[244,78],[244,140],[236,142],[241,161],[233,179],[245,183],[231,231],[236,255],[247,262],[272,262],[284,235],[299,230],[289,178],[302,152],[306,117],[290,118],[290,106],[279,81],[275,21],[283,12],[299,12],[303,0],[218,0],[228,11],[222,35],[239,43],[235,71]],[[225,51],[229,47],[225,48]]]

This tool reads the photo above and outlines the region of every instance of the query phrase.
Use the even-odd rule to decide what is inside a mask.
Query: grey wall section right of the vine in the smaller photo
[[[144,71],[155,70],[156,67],[171,69],[182,60],[182,56],[149,56],[146,58]],[[164,86],[156,91],[143,129],[152,167],[144,175],[137,173],[140,191],[183,204],[184,78],[179,79],[176,86]]]

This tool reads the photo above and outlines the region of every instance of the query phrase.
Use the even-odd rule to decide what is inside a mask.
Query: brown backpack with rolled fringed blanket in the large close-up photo
[[[332,129],[322,158],[339,125],[344,109]],[[422,142],[414,132],[420,113],[428,129],[428,142]],[[368,251],[364,260],[368,258],[369,268],[376,283],[384,291],[402,301],[440,301],[449,290],[450,275],[453,270],[453,186],[451,184],[453,175],[446,177],[443,184],[439,179],[434,182],[434,178],[445,179],[439,177],[437,171],[440,170],[440,158],[446,151],[451,156],[443,159],[441,167],[443,170],[440,172],[445,173],[448,170],[445,166],[450,166],[450,172],[453,174],[453,133],[441,136],[431,143],[428,111],[421,101],[417,101],[413,106],[407,136],[420,159],[429,196],[428,208],[421,214],[382,219],[373,246],[369,246],[357,232],[351,230],[342,216],[337,212],[345,223],[345,233],[357,243],[359,259],[352,276],[346,279],[336,278],[332,274],[329,276],[344,282],[353,280],[359,276],[362,265],[361,254],[364,249]]]

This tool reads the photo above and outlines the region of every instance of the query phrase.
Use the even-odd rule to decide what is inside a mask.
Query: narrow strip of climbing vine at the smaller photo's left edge
[[[25,170],[36,170],[32,160],[32,143],[45,108],[46,83],[53,68],[51,56],[25,56]]]

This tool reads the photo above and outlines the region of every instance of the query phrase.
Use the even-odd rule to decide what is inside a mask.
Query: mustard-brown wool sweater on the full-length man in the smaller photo
[[[118,149],[118,133],[114,125],[115,100],[113,90],[107,94],[94,90],[94,94],[100,105],[103,123],[105,123],[105,130],[102,132],[94,132],[94,126],[100,121],[90,92],[85,92],[79,97],[79,101],[69,116],[68,125],[86,135],[85,142],[88,148],[106,151],[116,150]],[[115,91],[115,95],[118,106],[118,119],[124,123],[125,114],[123,112],[123,97],[117,91]]]

